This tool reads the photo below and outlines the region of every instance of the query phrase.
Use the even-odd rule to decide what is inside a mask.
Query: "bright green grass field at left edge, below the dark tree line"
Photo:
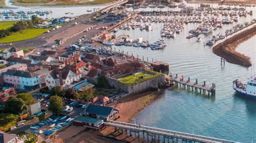
[[[17,42],[20,40],[27,40],[38,37],[49,29],[25,29],[21,32],[12,33],[10,36],[0,38],[0,43]]]

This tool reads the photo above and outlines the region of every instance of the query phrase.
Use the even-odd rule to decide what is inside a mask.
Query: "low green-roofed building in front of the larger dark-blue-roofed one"
[[[77,116],[75,120],[73,120],[73,125],[76,126],[84,126],[89,128],[99,129],[103,126],[104,121],[102,119],[96,119],[91,117]]]

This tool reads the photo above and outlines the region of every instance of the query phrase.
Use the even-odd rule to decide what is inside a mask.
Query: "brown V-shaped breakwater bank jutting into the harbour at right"
[[[252,65],[250,57],[235,51],[235,49],[240,43],[250,39],[255,34],[256,26],[253,26],[252,28],[242,31],[214,46],[212,51],[216,55],[225,58],[229,63],[250,67]]]

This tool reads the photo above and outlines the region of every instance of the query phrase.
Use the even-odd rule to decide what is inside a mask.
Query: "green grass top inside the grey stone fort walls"
[[[119,83],[121,84],[125,84],[127,86],[132,86],[132,85],[136,85],[138,83],[142,83],[143,81],[161,76],[162,74],[159,72],[154,72],[154,71],[144,71],[141,73],[137,73],[137,74],[132,74],[130,76],[126,76],[123,78],[118,79]],[[141,79],[139,79],[139,77],[142,77]]]

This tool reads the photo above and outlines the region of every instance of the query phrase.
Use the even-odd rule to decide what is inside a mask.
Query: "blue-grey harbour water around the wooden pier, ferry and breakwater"
[[[238,23],[251,21],[253,16],[240,18]],[[237,23],[224,24],[223,28],[215,30],[213,34],[225,33]],[[153,31],[119,30],[117,35],[130,33],[131,38],[142,37],[143,40],[156,42],[160,39],[160,29],[163,24],[153,23]],[[170,88],[162,98],[154,101],[136,117],[137,124],[165,128],[180,132],[207,135],[241,142],[256,141],[256,101],[241,97],[232,88],[234,79],[246,81],[252,74],[256,74],[256,36],[238,46],[237,51],[251,57],[252,66],[225,63],[220,66],[220,57],[212,53],[212,47],[205,46],[208,36],[200,35],[203,39],[197,43],[197,38],[186,39],[188,30],[196,28],[197,24],[187,24],[185,29],[174,39],[165,39],[167,47],[163,50],[152,51],[142,47],[114,46],[133,55],[149,57],[151,61],[160,60],[170,64],[170,72],[179,76],[184,74],[203,84],[216,84],[214,97],[203,96],[180,88]]]

